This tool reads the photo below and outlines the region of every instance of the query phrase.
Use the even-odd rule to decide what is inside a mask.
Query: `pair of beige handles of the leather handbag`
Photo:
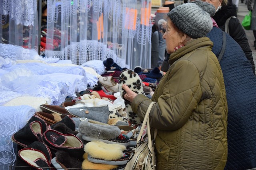
[[[146,111],[146,115],[144,117],[144,120],[142,122],[142,125],[141,125],[141,128],[140,128],[140,132],[138,134],[138,137],[137,137],[137,143],[140,142],[141,140],[141,137],[142,137],[142,133],[145,129],[145,125],[147,124],[147,134],[148,134],[148,147],[150,148],[150,151],[152,152],[151,148],[152,148],[152,140],[151,140],[151,134],[150,134],[150,123],[149,123],[149,113],[150,113],[150,110],[152,108],[152,106],[156,104],[156,102],[151,102],[150,105],[148,106],[148,109]]]

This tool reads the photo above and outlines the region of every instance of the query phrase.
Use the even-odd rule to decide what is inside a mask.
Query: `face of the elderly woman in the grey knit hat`
[[[180,34],[172,27],[171,20],[167,21],[166,31],[163,35],[163,39],[166,40],[166,51],[168,54],[174,52],[174,48],[178,47],[181,41]]]

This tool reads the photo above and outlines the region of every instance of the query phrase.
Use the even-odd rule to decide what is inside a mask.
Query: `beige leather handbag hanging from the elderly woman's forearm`
[[[148,106],[148,110],[141,125],[140,132],[137,137],[137,144],[130,153],[129,160],[124,170],[155,170],[156,169],[156,153],[155,153],[155,137],[157,129],[154,131],[154,139],[151,139],[149,113],[152,106],[156,102],[152,102]],[[142,139],[142,133],[147,125],[147,135]],[[147,137],[147,138],[146,138]],[[146,140],[147,139],[147,140]]]

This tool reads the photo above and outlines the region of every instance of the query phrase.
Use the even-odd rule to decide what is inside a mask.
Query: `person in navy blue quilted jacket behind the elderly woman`
[[[204,7],[201,1],[194,1]],[[220,60],[228,102],[228,160],[225,169],[246,170],[256,167],[256,77],[238,43],[218,27],[207,37],[212,52],[220,58],[223,37],[226,47]]]

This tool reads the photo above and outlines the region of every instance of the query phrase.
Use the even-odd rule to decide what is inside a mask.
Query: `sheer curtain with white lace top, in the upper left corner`
[[[0,0],[0,43],[38,49],[36,0]]]

